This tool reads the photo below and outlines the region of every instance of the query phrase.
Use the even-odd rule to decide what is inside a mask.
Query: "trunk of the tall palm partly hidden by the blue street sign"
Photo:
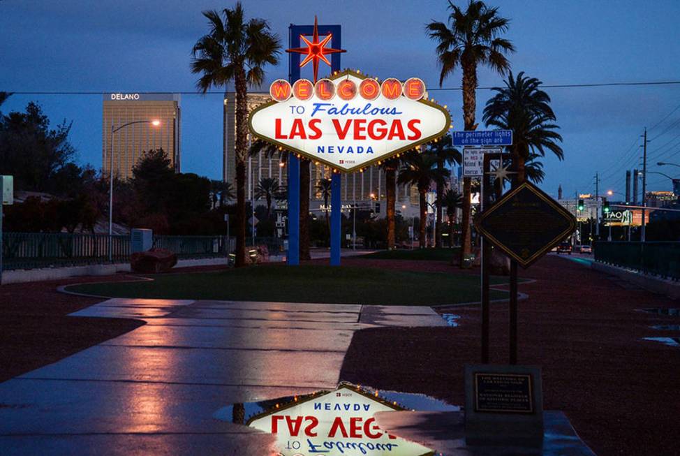
[[[477,108],[477,66],[473,62],[462,61],[463,68],[463,119],[466,130],[474,130],[475,109]],[[463,178],[463,217],[461,220],[460,267],[465,267],[464,259],[472,253],[472,233],[470,226],[470,177]]]

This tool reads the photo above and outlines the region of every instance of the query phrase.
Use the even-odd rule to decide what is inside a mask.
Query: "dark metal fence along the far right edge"
[[[680,280],[680,242],[596,242],[595,260]]]

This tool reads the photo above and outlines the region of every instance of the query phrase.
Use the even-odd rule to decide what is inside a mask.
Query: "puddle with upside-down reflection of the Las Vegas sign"
[[[337,390],[244,404],[247,425],[277,436],[282,456],[424,456],[434,451],[383,432],[374,414],[382,411],[459,411],[424,395],[378,392],[341,383]],[[231,421],[233,406],[214,418]]]

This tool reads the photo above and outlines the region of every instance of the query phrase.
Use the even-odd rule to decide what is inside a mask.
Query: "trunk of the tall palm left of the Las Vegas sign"
[[[235,267],[246,265],[246,163],[248,149],[248,117],[246,73],[239,68],[235,75],[236,88],[236,261]]]

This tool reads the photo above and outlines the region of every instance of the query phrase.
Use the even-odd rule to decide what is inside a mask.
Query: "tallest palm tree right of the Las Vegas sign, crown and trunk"
[[[489,8],[483,1],[470,0],[462,10],[449,2],[451,13],[448,24],[431,22],[427,31],[437,42],[437,54],[441,64],[439,87],[444,79],[460,66],[463,71],[463,118],[466,130],[477,128],[475,109],[477,99],[477,67],[486,65],[501,75],[508,71],[510,62],[504,54],[514,52],[510,41],[501,38],[508,30],[509,20],[498,15],[498,8]],[[463,223],[460,265],[471,249],[470,233],[470,186],[471,178],[463,178]]]

